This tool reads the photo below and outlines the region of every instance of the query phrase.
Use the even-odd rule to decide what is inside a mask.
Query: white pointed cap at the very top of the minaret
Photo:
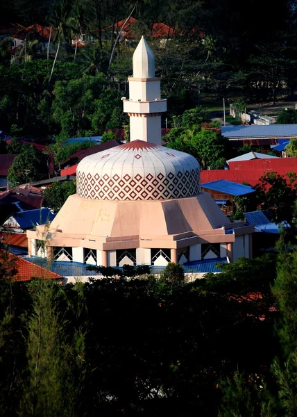
[[[155,56],[142,36],[133,54],[133,77],[154,78]]]

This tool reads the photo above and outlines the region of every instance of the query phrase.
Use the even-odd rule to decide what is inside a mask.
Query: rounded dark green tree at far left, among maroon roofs
[[[46,156],[32,145],[22,145],[22,152],[15,157],[7,179],[12,186],[44,179],[48,173]]]

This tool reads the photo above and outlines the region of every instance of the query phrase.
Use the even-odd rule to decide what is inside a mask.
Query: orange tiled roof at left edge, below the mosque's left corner
[[[0,253],[0,263],[3,262],[3,258],[5,256],[5,252],[1,251]],[[51,272],[42,268],[39,265],[35,265],[35,263],[26,261],[26,259],[21,258],[20,256],[16,256],[13,254],[8,254],[8,277],[9,271],[12,272],[12,277],[16,281],[30,281],[33,278],[45,278],[45,279],[62,279],[61,275],[56,274],[55,272]],[[17,270],[16,275],[14,275],[14,271]]]

